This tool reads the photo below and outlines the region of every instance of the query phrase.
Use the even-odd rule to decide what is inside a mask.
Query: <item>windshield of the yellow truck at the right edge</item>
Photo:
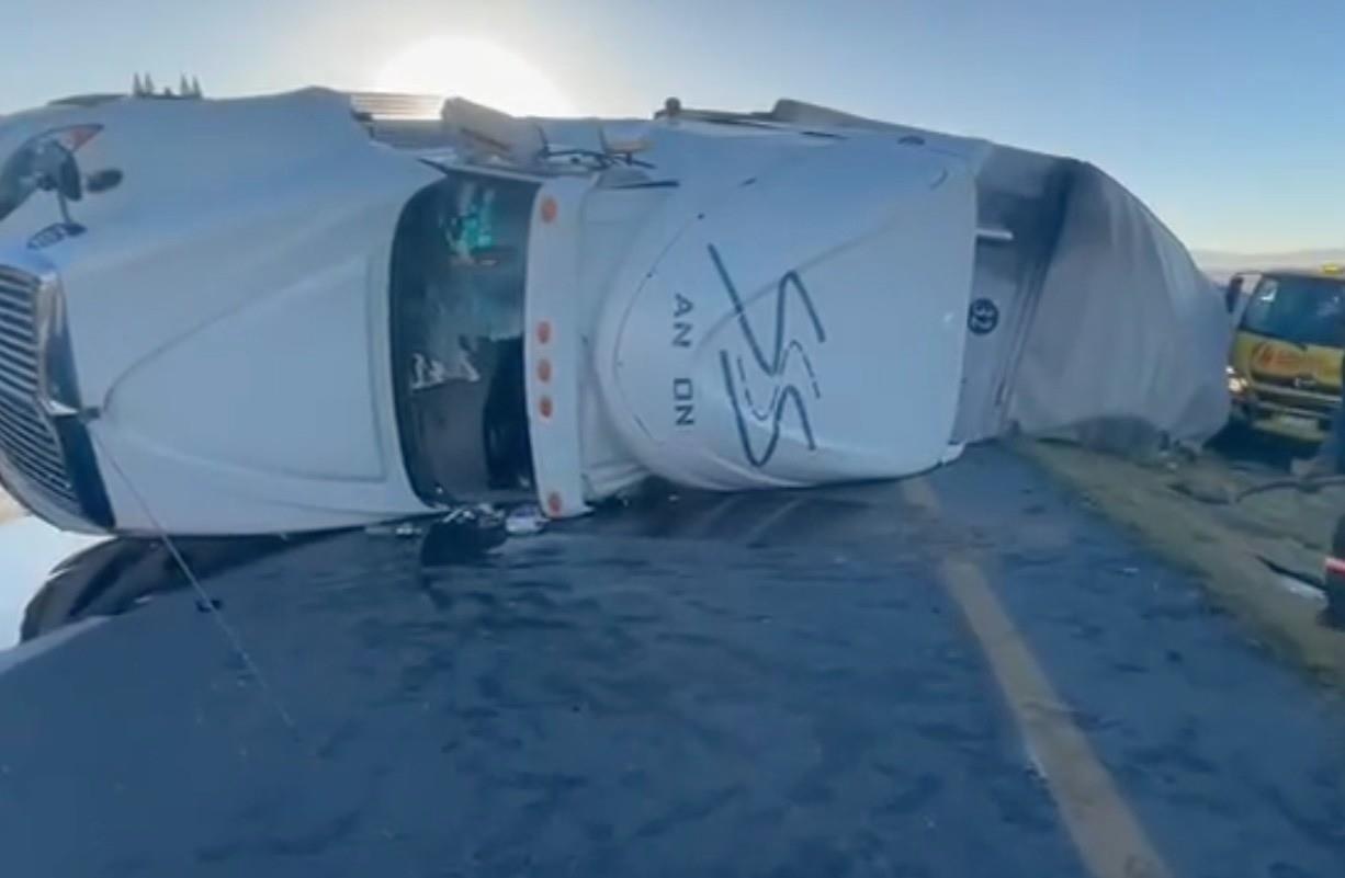
[[[1297,344],[1345,347],[1345,281],[1266,276],[1247,305],[1243,328]]]

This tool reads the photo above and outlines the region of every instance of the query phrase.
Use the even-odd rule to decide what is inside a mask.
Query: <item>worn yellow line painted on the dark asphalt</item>
[[[925,479],[908,479],[901,489],[917,508],[939,514],[939,497]],[[967,558],[950,557],[939,565],[939,577],[981,643],[1018,730],[1037,758],[1075,847],[1092,875],[1170,877],[981,567]]]

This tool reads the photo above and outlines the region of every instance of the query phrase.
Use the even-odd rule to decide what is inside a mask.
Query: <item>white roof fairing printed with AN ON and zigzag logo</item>
[[[600,324],[594,366],[632,454],[716,489],[946,460],[975,249],[966,164],[861,136],[702,203]]]

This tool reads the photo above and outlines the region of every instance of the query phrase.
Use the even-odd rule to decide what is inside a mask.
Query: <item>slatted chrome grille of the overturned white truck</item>
[[[61,442],[38,405],[39,286],[32,274],[0,266],[0,453],[48,500],[78,515]]]

